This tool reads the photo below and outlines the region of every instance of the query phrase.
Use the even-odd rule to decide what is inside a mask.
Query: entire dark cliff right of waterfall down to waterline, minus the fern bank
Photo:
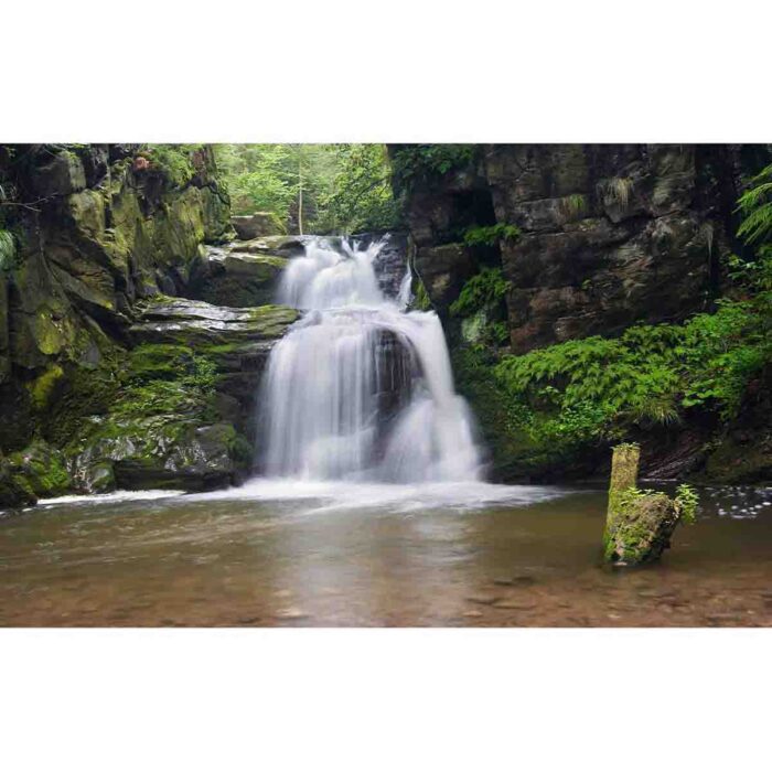
[[[726,258],[743,248],[735,237],[738,195],[769,163],[769,148],[390,146],[389,152],[418,299],[444,320],[459,385],[480,417],[496,475],[597,473],[602,454],[593,443],[569,462],[536,452],[523,432],[504,428],[511,414],[492,407],[503,397],[485,366],[506,354],[714,310],[727,283]],[[472,350],[480,366],[467,367]],[[718,444],[716,422],[693,414],[634,438],[644,446],[644,473],[712,469],[706,459]],[[769,470],[762,460],[750,479]]]

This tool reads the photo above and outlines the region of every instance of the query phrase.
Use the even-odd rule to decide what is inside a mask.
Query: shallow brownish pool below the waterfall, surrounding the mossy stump
[[[697,524],[644,569],[599,565],[598,490],[152,495],[0,514],[0,624],[772,624],[772,489],[704,489]]]

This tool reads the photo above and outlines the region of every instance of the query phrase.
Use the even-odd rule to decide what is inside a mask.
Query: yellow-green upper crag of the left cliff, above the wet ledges
[[[18,254],[0,277],[0,447],[7,451],[50,429],[56,394],[44,409],[25,396],[41,374],[93,366],[115,353],[126,344],[138,299],[184,293],[201,245],[233,235],[212,148],[190,153],[194,173],[183,185],[152,169],[133,171],[138,150],[31,146],[12,164],[0,152],[9,203],[34,200],[40,210],[14,207]]]

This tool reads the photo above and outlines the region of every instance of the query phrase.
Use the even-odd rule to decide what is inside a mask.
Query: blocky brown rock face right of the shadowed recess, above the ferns
[[[493,146],[485,169],[515,352],[703,308],[722,223],[697,205],[688,146]]]

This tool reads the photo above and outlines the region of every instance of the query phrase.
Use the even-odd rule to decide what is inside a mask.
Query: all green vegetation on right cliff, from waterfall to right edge
[[[771,179],[768,168],[739,201],[738,233],[750,249],[727,258],[729,281],[712,312],[523,355],[490,339],[457,352],[460,387],[504,476],[591,468],[593,449],[611,442],[695,421],[727,427],[738,418],[772,363]],[[501,271],[483,268],[451,314],[469,319],[506,291]]]

